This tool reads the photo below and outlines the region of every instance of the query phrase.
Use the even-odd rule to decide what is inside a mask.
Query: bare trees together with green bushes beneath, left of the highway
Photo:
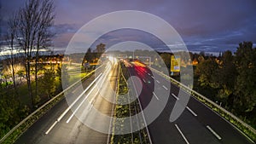
[[[49,98],[57,89],[55,77],[60,72],[51,66],[39,73],[44,69],[39,64],[40,51],[49,49],[55,35],[51,31],[54,9],[52,0],[26,0],[22,8],[10,14],[4,38],[9,47],[6,65],[12,80],[0,84],[0,137],[37,108],[43,94]],[[20,58],[24,61],[26,84],[17,85],[19,73],[15,65]]]

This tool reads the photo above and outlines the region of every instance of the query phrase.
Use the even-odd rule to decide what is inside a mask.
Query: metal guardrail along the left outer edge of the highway
[[[72,85],[70,85],[69,87],[67,87],[67,89],[64,89],[61,91],[61,93],[59,93],[58,95],[55,95],[55,97],[51,98],[49,101],[45,102],[44,105],[42,105],[41,107],[39,107],[36,111],[32,112],[30,115],[28,115],[26,118],[24,118],[19,124],[17,124],[12,130],[9,130],[9,132],[4,135],[1,140],[0,143],[2,143],[3,141],[6,140],[6,138],[8,138],[9,135],[11,135],[15,130],[17,130],[20,125],[25,124],[25,122],[32,118],[33,115],[35,115],[37,112],[39,112],[41,109],[43,109],[44,107],[46,107],[47,105],[49,105],[50,102],[55,101],[56,98],[58,98],[59,96],[63,95],[67,90],[72,89],[73,86],[75,86],[76,84],[79,84],[80,81],[84,80],[84,78],[87,78],[88,76],[90,76],[93,72],[96,72],[97,69],[99,69],[102,66],[97,67],[95,70],[93,70],[92,72],[88,73],[86,76],[84,76],[83,78],[79,79],[77,82],[73,83]]]

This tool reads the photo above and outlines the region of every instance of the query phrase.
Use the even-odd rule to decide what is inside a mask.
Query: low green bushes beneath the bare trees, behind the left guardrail
[[[38,78],[38,95],[35,91],[35,81],[32,81],[32,95],[35,95],[33,97],[34,107],[30,107],[31,101],[26,83],[17,85],[16,89],[13,83],[0,84],[0,137],[19,124],[34,109],[62,91],[61,73],[67,73],[67,68],[61,68],[61,66],[54,68],[54,66],[56,67],[51,64],[49,69],[41,69],[44,73]],[[69,76],[66,74],[62,78],[67,80]]]

